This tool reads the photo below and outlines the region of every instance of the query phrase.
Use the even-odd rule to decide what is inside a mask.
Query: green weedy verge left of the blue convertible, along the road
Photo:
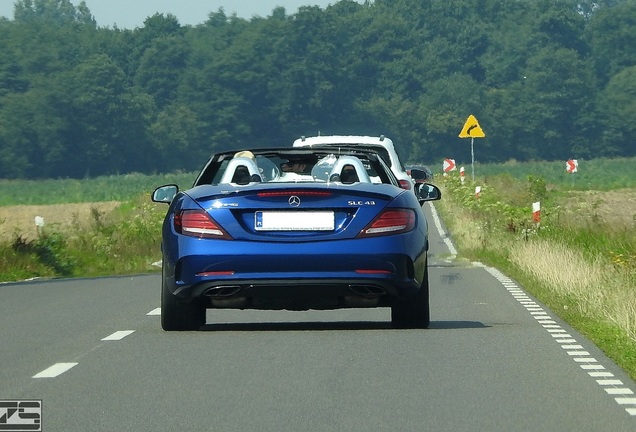
[[[35,239],[0,244],[0,281],[33,277],[90,277],[157,271],[167,207],[136,196],[113,214],[92,209],[89,226],[45,227]]]

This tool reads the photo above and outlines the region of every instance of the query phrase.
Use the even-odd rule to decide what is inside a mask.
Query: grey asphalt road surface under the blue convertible
[[[0,285],[0,430],[37,400],[47,432],[635,431],[636,383],[434,219],[428,330],[226,310],[166,333],[158,275]]]

